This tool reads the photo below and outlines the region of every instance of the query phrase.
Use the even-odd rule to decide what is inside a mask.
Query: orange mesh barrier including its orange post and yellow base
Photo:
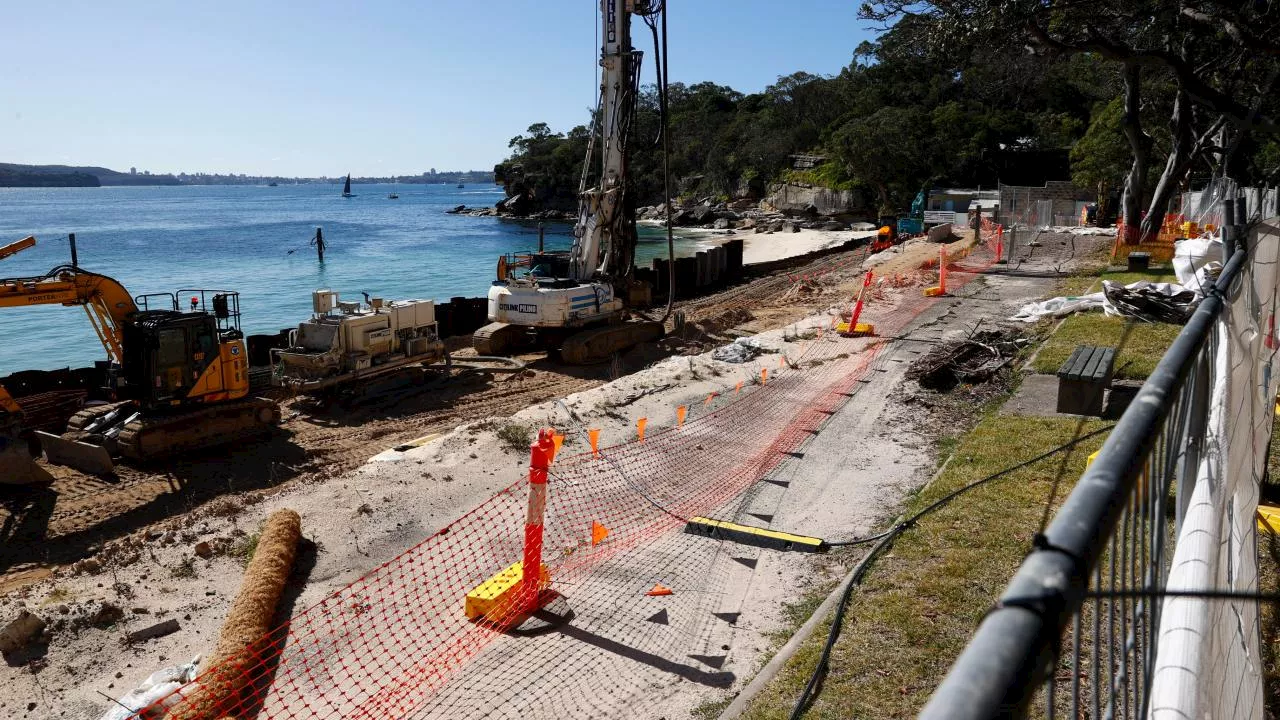
[[[954,266],[948,278],[954,288],[995,261],[995,238],[993,228],[984,231],[977,252]],[[904,291],[868,305],[864,313],[882,334],[897,334],[934,302],[919,291]],[[765,363],[744,366],[741,375],[724,377],[722,389],[707,402],[682,406],[682,421],[673,407],[669,419],[650,424],[644,442],[603,447],[598,430],[576,420],[566,424],[563,432],[590,438],[591,450],[557,456],[540,491],[535,451],[530,479],[535,492],[545,493],[535,498],[540,512],[529,501],[530,483],[515,482],[294,615],[237,659],[237,667],[246,669],[241,683],[246,691],[223,698],[210,719],[474,716],[545,701],[538,698],[531,678],[538,675],[545,684],[548,665],[576,656],[566,656],[571,651],[554,638],[530,646],[521,643],[534,641],[504,633],[522,610],[545,600],[545,583],[515,584],[498,606],[472,620],[463,612],[465,596],[509,574],[522,557],[538,564],[534,555],[525,555],[525,538],[536,532],[550,589],[589,620],[571,624],[563,637],[593,647],[621,647],[608,628],[620,596],[669,592],[678,597],[694,582],[673,559],[703,552],[699,548],[709,541],[675,530],[689,516],[723,509],[787,461],[849,401],[886,342],[836,333],[819,338],[814,328],[797,328],[806,340],[795,341],[801,347],[788,351],[787,363],[769,372],[767,384],[763,373],[754,372],[768,370]],[[547,446],[540,447],[545,451]],[[650,626],[657,623],[650,619]],[[626,625],[621,619],[614,624]],[[531,647],[547,648],[549,655],[530,653]],[[676,664],[659,647],[626,652],[663,671],[726,684],[712,661],[704,662],[707,670]],[[480,657],[484,671],[466,673]],[[201,678],[209,673],[225,669],[206,670]],[[195,692],[201,678],[160,702],[170,705]],[[575,714],[591,712],[585,707],[556,711]]]

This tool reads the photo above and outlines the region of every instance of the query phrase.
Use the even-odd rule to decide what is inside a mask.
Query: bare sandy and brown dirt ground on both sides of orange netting
[[[924,258],[936,246],[919,252]],[[940,301],[913,324],[911,334],[936,340],[968,332],[973,323],[998,320],[1018,302],[1042,295],[1052,283],[1046,273],[1066,256],[1068,242],[1044,238],[1034,252],[1039,258],[1018,264],[1018,272],[978,278],[961,297]],[[298,510],[311,541],[282,609],[280,618],[288,618],[518,478],[527,452],[503,447],[497,424],[481,423],[486,429],[477,432],[476,421],[513,416],[541,423],[562,413],[549,401],[564,398],[584,421],[625,439],[636,416],[669,414],[676,402],[705,397],[724,382],[716,379],[708,350],[736,336],[772,331],[762,342],[786,352],[796,342],[796,328],[788,324],[806,316],[806,324],[822,322],[832,306],[847,305],[861,284],[864,259],[864,250],[833,254],[682,302],[684,324],[671,325],[671,338],[632,351],[616,365],[570,369],[530,357],[531,374],[477,377],[467,386],[398,397],[390,405],[321,410],[293,401],[282,438],[237,448],[230,460],[205,459],[163,474],[132,470],[137,477],[83,492],[79,514],[68,511],[70,502],[58,506],[67,498],[55,484],[54,497],[45,500],[47,510],[5,525],[5,538],[15,534],[13,528],[33,528],[35,536],[22,542],[28,557],[44,560],[26,566],[10,561],[10,589],[26,587],[0,597],[0,621],[18,606],[29,606],[50,619],[52,638],[31,659],[0,667],[0,682],[14,688],[8,700],[0,698],[0,715],[96,716],[106,707],[102,693],[119,697],[152,670],[207,652],[242,573],[238,559],[270,510]],[[919,288],[899,295],[905,292]],[[892,302],[892,293],[882,301]],[[774,474],[794,491],[760,483],[721,515],[751,524],[767,516],[780,529],[826,537],[859,536],[883,520],[932,466],[934,432],[919,423],[928,410],[897,393],[904,368],[922,347],[890,347],[859,391],[858,411],[833,416],[801,457]],[[621,379],[608,382],[614,377]],[[419,448],[384,454],[435,432],[445,434]],[[398,461],[366,464],[379,454]],[[431,471],[424,473],[425,465]],[[193,555],[201,542],[209,543],[209,557]],[[4,552],[14,552],[9,546],[6,539]],[[663,605],[611,585],[618,579],[649,582],[637,569],[653,566],[655,557],[681,557],[668,564],[672,577],[664,579],[699,589]],[[599,589],[576,591],[582,598],[612,598],[599,606],[580,602],[577,630],[540,642],[532,653],[493,646],[416,716],[474,716],[476,698],[502,701],[504,707],[479,714],[506,716],[520,710],[503,700],[512,700],[508,692],[535,703],[521,716],[686,716],[741,687],[771,647],[769,633],[783,623],[783,600],[838,574],[840,562],[836,556],[797,562],[794,555],[667,537],[643,553],[620,557],[616,568],[593,579]],[[669,620],[657,623],[655,614]],[[716,620],[726,615],[736,621]],[[175,619],[182,628],[147,642],[122,641],[124,632],[160,619]],[[558,674],[557,664],[575,673]],[[532,666],[543,678],[538,692],[517,683],[515,691],[494,694],[498,679],[511,673],[524,678]]]

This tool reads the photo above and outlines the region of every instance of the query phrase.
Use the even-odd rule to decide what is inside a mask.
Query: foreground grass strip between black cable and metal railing
[[[946,470],[906,511],[1098,427],[988,415],[960,439]],[[1046,503],[1062,501],[1102,441],[1089,438],[965,493],[904,533],[854,593],[822,693],[805,717],[916,715],[1021,562]],[[829,621],[801,646],[746,717],[790,714],[828,628]]]

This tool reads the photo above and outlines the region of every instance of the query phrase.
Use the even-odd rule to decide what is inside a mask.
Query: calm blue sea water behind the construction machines
[[[82,268],[111,275],[134,295],[180,288],[236,290],[246,333],[274,333],[311,313],[311,291],[385,299],[448,300],[488,292],[497,258],[538,246],[538,227],[447,215],[492,205],[492,186],[358,184],[279,187],[0,188],[0,245],[38,245],[0,260],[0,278],[35,277],[69,263],[76,233]],[[324,228],[325,263],[308,241]],[[570,225],[549,223],[548,249],[567,247]],[[677,254],[704,245],[677,241]],[[292,251],[292,252],[291,252]],[[641,231],[640,264],[667,254],[664,236]],[[105,359],[78,307],[0,309],[0,375],[83,366]]]

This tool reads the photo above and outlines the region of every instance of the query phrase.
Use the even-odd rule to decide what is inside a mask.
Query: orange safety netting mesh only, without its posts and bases
[[[954,288],[995,261],[993,231],[984,228],[982,240],[964,264],[952,265]],[[868,305],[865,314],[879,334],[893,336],[936,302],[908,290]],[[682,427],[676,427],[673,409],[672,418],[659,423],[668,427],[654,428],[644,442],[557,457],[543,541],[552,588],[571,601],[575,593],[602,592],[588,588],[599,588],[607,579],[602,573],[616,571],[602,570],[611,560],[628,553],[635,560],[636,552],[678,542],[672,532],[685,518],[714,514],[813,437],[865,382],[886,347],[884,340],[844,338],[829,329],[806,334],[783,368],[769,364],[765,384],[758,384],[758,370],[727,377],[709,402],[691,404]],[[739,379],[744,387],[735,392]],[[585,436],[586,428],[562,432]],[[527,495],[527,480],[512,483],[253,643],[246,650],[248,662],[239,662],[248,667],[242,683],[247,689],[218,698],[210,717],[381,719],[424,710],[503,637],[494,621],[468,621],[463,598],[521,559]],[[608,529],[603,539],[600,527]],[[524,606],[530,600],[517,593],[512,602]],[[172,705],[198,685],[200,678],[157,705]],[[445,715],[470,714],[475,708]]]

